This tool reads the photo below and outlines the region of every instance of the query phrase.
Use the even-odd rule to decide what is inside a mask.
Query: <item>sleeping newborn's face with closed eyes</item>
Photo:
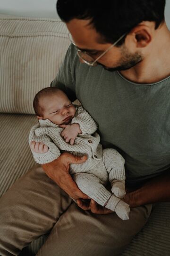
[[[40,104],[43,109],[41,119],[49,119],[56,125],[69,124],[76,113],[75,106],[62,91],[43,97]]]

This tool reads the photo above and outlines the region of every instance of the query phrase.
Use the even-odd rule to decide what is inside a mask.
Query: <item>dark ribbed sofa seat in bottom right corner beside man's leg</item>
[[[170,202],[157,203],[121,256],[170,256]]]

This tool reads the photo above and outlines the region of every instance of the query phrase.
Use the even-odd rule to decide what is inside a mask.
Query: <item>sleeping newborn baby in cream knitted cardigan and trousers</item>
[[[97,124],[82,106],[71,103],[67,95],[48,87],[34,98],[39,119],[30,131],[29,144],[34,159],[45,164],[57,159],[60,152],[87,155],[85,163],[70,164],[69,173],[78,188],[121,219],[129,219],[129,205],[121,198],[125,192],[125,161],[115,149],[102,150]],[[105,188],[110,182],[111,192]]]

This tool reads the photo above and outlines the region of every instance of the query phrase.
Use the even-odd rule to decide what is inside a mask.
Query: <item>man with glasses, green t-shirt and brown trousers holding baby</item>
[[[164,0],[58,0],[73,44],[51,86],[80,100],[99,125],[103,147],[125,158],[130,219],[82,200],[87,196],[68,170],[85,156],[63,153],[42,166],[51,179],[37,167],[2,197],[1,255],[17,255],[50,230],[38,256],[119,255],[144,226],[152,203],[170,200],[170,32],[164,6]]]

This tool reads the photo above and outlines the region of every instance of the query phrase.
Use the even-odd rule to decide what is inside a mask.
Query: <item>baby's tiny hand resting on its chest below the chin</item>
[[[60,125],[59,127],[64,128],[61,132],[61,137],[63,137],[67,143],[70,141],[70,145],[74,144],[78,133],[82,133],[79,124],[76,123],[71,125]]]

